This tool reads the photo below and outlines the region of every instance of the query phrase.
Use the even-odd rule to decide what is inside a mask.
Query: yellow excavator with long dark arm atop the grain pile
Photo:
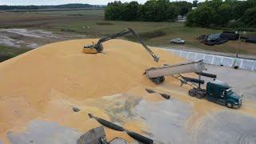
[[[146,44],[142,41],[142,38],[140,38],[139,35],[131,28],[127,28],[126,30],[122,30],[121,32],[116,33],[116,34],[112,34],[112,35],[110,35],[106,38],[101,38],[101,39],[98,40],[97,43],[93,42],[92,45],[84,46],[83,52],[86,53],[86,54],[102,53],[102,51],[103,51],[102,43],[103,42],[109,41],[109,40],[114,39],[114,38],[122,37],[123,35],[126,35],[126,34],[133,34],[134,37],[138,39],[138,42],[140,42],[142,44],[142,46],[146,49],[146,51],[149,52],[150,55],[154,58],[154,62],[159,61],[159,57],[157,55],[155,55],[153,53],[153,51],[150,50],[150,48],[148,46],[146,46]]]

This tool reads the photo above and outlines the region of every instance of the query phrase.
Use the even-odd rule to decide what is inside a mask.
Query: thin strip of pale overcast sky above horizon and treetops
[[[122,2],[130,2],[133,0],[121,0]],[[144,3],[147,0],[137,0],[139,3]],[[176,0],[170,0],[176,1]],[[193,0],[187,0],[192,2]],[[202,1],[202,0],[199,0]],[[0,0],[0,5],[61,5],[66,3],[88,3],[91,5],[106,5],[114,0]]]

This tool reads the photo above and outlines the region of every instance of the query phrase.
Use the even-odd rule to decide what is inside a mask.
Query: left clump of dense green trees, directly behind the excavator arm
[[[122,21],[173,21],[192,9],[190,2],[170,2],[169,0],[149,0],[141,5],[138,2],[109,2],[105,8],[106,20]]]

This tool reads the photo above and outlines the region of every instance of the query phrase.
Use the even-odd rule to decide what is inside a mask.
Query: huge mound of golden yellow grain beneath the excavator
[[[3,131],[43,114],[58,91],[75,100],[122,93],[135,86],[155,86],[144,70],[182,58],[154,49],[160,62],[138,43],[112,40],[104,53],[83,54],[95,39],[57,42],[0,63],[0,126]],[[54,107],[53,107],[54,110]]]

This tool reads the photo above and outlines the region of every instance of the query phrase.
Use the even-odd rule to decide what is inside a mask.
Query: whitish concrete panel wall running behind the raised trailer
[[[186,58],[187,60],[198,61],[200,59],[203,59],[203,62],[211,65],[218,65],[218,66],[223,65],[228,67],[234,66],[235,58],[232,58],[232,57],[203,54],[203,53],[196,53],[196,52],[183,51],[183,50],[170,50],[170,49],[166,49],[166,50],[171,51],[182,58]],[[256,60],[238,58],[235,66],[239,66],[239,69],[242,69],[242,70],[256,70]]]

